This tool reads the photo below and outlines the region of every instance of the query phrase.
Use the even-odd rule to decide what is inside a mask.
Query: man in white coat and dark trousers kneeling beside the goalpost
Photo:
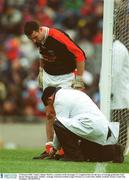
[[[56,116],[50,156],[62,147],[68,161],[124,161],[123,148],[117,144],[119,123],[109,122],[87,94],[47,87],[42,101]]]

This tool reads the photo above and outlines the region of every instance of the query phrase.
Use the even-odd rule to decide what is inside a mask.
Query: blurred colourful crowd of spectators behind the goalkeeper
[[[102,0],[0,0],[0,115],[43,116],[39,53],[23,34],[25,22],[64,30],[85,51],[86,91],[99,105]]]

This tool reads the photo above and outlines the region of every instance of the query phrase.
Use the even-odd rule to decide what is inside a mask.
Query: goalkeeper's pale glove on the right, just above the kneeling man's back
[[[84,82],[82,80],[82,76],[77,75],[75,80],[73,81],[71,87],[74,89],[84,89],[85,86],[84,86]]]

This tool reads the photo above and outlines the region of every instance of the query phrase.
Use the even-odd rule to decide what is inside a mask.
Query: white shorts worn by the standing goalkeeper
[[[55,76],[43,71],[43,89],[48,86],[70,88],[74,79],[74,73]]]

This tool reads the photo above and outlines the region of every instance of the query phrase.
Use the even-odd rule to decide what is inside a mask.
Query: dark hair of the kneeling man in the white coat
[[[41,97],[45,106],[48,105],[48,98],[51,97],[52,94],[54,94],[55,92],[56,92],[56,87],[49,86],[49,87],[45,88],[45,90],[43,91],[42,97]]]

